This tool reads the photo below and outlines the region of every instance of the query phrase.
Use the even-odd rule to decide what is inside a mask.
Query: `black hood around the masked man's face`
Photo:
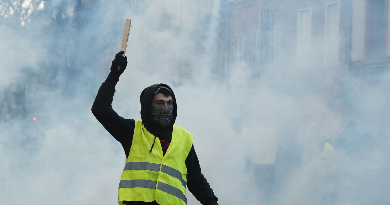
[[[170,90],[172,93],[172,100],[173,100],[173,113],[172,113],[172,122],[166,127],[161,128],[161,126],[152,118],[151,110],[152,110],[152,99],[153,96],[160,91],[160,87],[165,87]],[[173,124],[175,124],[176,116],[177,116],[177,104],[176,104],[176,97],[175,94],[167,84],[159,83],[151,85],[147,88],[145,88],[140,96],[141,101],[141,119],[142,123],[144,123],[145,128],[152,133],[155,136],[163,137],[161,136],[162,133],[166,133],[166,130],[172,130]]]

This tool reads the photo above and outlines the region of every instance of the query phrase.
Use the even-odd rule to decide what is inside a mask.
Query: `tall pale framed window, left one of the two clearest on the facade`
[[[298,11],[297,66],[309,68],[311,60],[312,11],[310,8]]]

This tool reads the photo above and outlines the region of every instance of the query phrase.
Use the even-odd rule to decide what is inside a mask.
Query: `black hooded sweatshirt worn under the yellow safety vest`
[[[131,143],[133,142],[133,133],[135,127],[134,119],[124,119],[119,116],[112,109],[112,100],[115,93],[115,86],[119,78],[115,75],[109,74],[106,81],[100,86],[96,95],[95,101],[92,105],[92,113],[96,119],[106,128],[106,130],[121,143],[126,158],[129,156]],[[151,118],[151,102],[154,96],[154,91],[159,86],[164,86],[172,92],[173,100],[173,120],[167,128],[161,128],[156,121]],[[175,123],[177,116],[176,98],[172,89],[166,84],[154,84],[142,91],[140,96],[141,101],[141,118],[145,128],[158,137],[162,142],[161,145],[170,143],[172,138],[172,126]],[[169,145],[169,144],[168,144]],[[152,148],[152,147],[151,147]],[[195,196],[197,200],[203,205],[218,205],[216,202],[218,198],[214,195],[213,189],[210,188],[209,183],[202,174],[199,160],[192,145],[190,152],[185,161],[187,167],[187,187],[188,190]],[[128,205],[156,205],[156,201],[140,202],[128,201]]]

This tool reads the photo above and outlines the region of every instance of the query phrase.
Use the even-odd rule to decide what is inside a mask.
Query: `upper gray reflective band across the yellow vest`
[[[160,172],[160,164],[150,163],[150,162],[128,162],[124,166],[124,171],[129,170],[149,170],[154,172]],[[183,175],[179,170],[176,170],[167,165],[162,165],[161,172],[166,173],[172,177],[175,177],[181,181],[181,185],[184,187],[187,186],[187,182],[183,179]]]

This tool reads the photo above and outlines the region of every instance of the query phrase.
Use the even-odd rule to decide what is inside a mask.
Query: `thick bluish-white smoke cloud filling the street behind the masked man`
[[[76,19],[76,1],[48,1],[25,26],[0,23],[0,89],[27,83],[30,91],[28,119],[0,124],[0,205],[117,204],[125,155],[90,108],[126,19],[129,63],[114,110],[140,119],[142,89],[170,85],[176,123],[193,133],[219,204],[264,201],[252,159],[267,154],[276,158],[275,204],[390,203],[389,75],[370,83],[314,66],[310,73],[286,68],[277,82],[253,81],[238,63],[216,80],[220,1],[146,2],[101,1]],[[66,21],[52,24],[61,12]],[[326,142],[334,153],[323,152]],[[189,205],[200,204],[187,195]]]

